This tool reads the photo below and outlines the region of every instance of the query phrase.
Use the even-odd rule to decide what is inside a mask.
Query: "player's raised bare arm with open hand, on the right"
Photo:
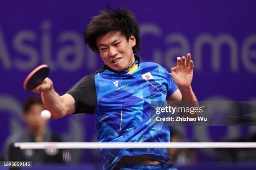
[[[172,79],[178,86],[178,89],[167,98],[167,101],[190,101],[181,102],[181,107],[199,107],[197,97],[195,96],[191,82],[193,78],[194,63],[191,60],[191,55],[187,54],[186,57],[177,57],[177,66],[172,68]],[[193,102],[194,101],[194,102]],[[198,112],[191,115],[197,117]]]

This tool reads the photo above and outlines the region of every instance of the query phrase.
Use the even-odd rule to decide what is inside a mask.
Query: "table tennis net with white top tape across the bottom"
[[[256,143],[14,143],[9,158],[33,169],[102,170],[99,148],[165,148],[178,170],[256,169]]]

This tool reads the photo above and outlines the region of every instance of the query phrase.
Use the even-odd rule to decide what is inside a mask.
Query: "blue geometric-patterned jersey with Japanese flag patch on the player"
[[[151,125],[151,101],[166,101],[177,90],[171,74],[154,62],[140,62],[134,72],[127,73],[105,70],[95,74],[98,142],[169,142],[168,126]],[[123,156],[142,154],[162,162],[170,160],[164,148],[100,149],[105,170]]]

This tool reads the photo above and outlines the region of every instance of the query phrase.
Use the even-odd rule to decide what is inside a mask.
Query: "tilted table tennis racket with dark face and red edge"
[[[39,65],[26,77],[23,82],[23,88],[31,91],[33,88],[40,85],[40,83],[48,76],[49,71],[50,69],[48,65]]]

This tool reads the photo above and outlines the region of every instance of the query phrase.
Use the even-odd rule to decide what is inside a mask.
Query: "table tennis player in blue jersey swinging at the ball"
[[[59,96],[46,78],[33,91],[57,119],[72,113],[94,114],[99,142],[169,142],[169,127],[151,125],[151,101],[196,101],[190,86],[190,54],[177,58],[172,75],[159,64],[141,62],[139,27],[131,11],[118,8],[95,16],[84,33],[85,43],[100,53],[105,65],[83,77]],[[164,169],[164,149],[100,149],[104,169]]]

